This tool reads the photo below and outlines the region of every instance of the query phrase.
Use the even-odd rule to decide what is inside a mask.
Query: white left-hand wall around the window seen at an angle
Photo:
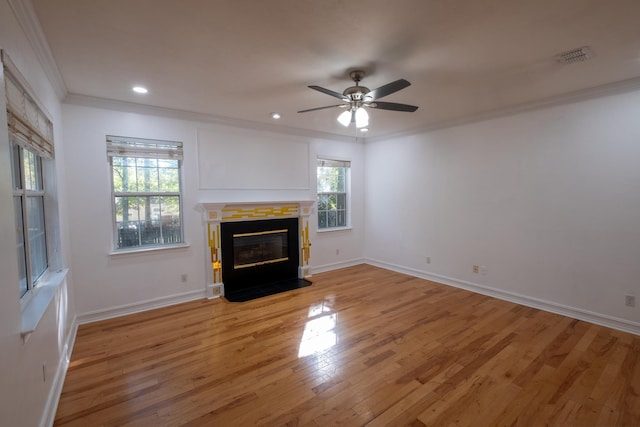
[[[0,48],[9,54],[38,100],[51,114],[56,162],[63,164],[65,151],[62,145],[60,103],[6,0],[0,1]],[[61,375],[66,368],[65,345],[70,343],[69,340],[72,341],[75,333],[73,291],[70,279],[62,284],[36,331],[23,343],[20,336],[22,312],[18,290],[16,228],[4,112],[0,113],[0,117],[0,424],[37,426],[48,422],[47,417],[55,411],[57,387],[62,384]],[[53,197],[47,200],[50,261],[55,267],[66,267],[69,248],[65,235],[64,168],[52,169],[49,174],[57,180],[57,185],[49,187],[54,191]],[[49,180],[48,183],[52,184],[53,181]],[[43,366],[46,378],[43,378]]]

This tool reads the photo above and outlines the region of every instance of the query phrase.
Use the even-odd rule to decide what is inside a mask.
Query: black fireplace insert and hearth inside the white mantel
[[[311,282],[298,278],[298,218],[221,224],[225,298],[247,301]]]

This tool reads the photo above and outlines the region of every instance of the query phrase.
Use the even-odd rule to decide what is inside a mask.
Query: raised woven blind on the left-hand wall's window
[[[9,133],[19,145],[32,149],[41,157],[53,159],[53,123],[20,82],[6,53],[2,52],[7,124]]]

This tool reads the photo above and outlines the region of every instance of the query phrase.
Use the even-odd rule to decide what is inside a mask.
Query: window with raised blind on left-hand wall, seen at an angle
[[[51,175],[51,167],[55,162],[53,122],[6,51],[0,50],[0,58],[0,93],[3,98],[0,105],[6,109],[12,204],[16,221],[18,290],[24,310],[37,293],[40,283],[47,282],[51,270],[59,263],[52,246],[56,244],[53,237],[55,231],[49,229],[50,223],[55,224],[56,210],[51,205],[48,190],[49,180],[53,180],[55,189],[55,177]],[[29,182],[25,175],[26,152],[35,160],[34,175]],[[30,209],[30,200],[34,198],[39,201],[37,211]],[[37,215],[30,218],[33,212],[37,212]],[[33,226],[34,223],[37,223],[37,227]],[[38,234],[35,239],[32,233],[34,229]],[[22,242],[18,241],[18,235],[21,235]],[[35,268],[34,263],[37,264]]]

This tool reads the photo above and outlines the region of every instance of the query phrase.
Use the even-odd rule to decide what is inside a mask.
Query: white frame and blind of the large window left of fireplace
[[[112,212],[112,254],[122,254],[122,253],[131,253],[131,252],[141,252],[141,251],[154,251],[161,249],[170,249],[176,247],[184,247],[187,246],[185,243],[185,232],[184,232],[184,191],[183,191],[183,156],[182,156],[182,142],[174,142],[174,141],[164,141],[164,140],[156,140],[156,139],[143,139],[143,138],[132,138],[132,137],[121,137],[121,136],[113,136],[107,135],[107,157],[109,164],[109,178],[110,178],[110,193],[111,193],[111,212]],[[115,188],[115,178],[114,173],[116,171],[116,167],[114,166],[114,159],[119,158],[123,160],[123,165],[121,167],[131,168],[133,167],[136,171],[136,175],[138,170],[152,170],[155,168],[157,170],[158,176],[158,185],[160,182],[160,169],[159,164],[163,161],[171,161],[176,162],[177,167],[177,180],[178,180],[178,191],[161,191],[160,188],[155,190],[147,190],[147,191],[116,191]],[[127,160],[128,159],[128,160]],[[138,161],[143,159],[144,162],[151,160],[155,162],[155,166],[149,165],[139,165]],[[133,162],[133,165],[130,162]],[[126,164],[129,163],[128,166]],[[170,167],[166,169],[172,169]],[[136,187],[136,190],[139,188]],[[169,222],[173,223],[173,217],[168,219],[167,224],[163,225],[162,221],[162,211],[159,212],[157,219],[151,219],[151,215],[153,214],[155,208],[152,207],[152,200],[163,199],[163,198],[177,198],[177,206],[178,206],[178,221],[179,224],[176,227],[173,225],[171,228],[171,236],[168,234],[164,234],[165,229],[169,226]],[[134,198],[134,199],[147,199],[144,202],[145,208],[149,208],[149,217],[145,219],[141,219],[138,216],[138,219],[132,221],[124,221],[122,218],[120,221],[118,220],[118,199],[120,198]],[[161,204],[162,202],[156,202]],[[140,210],[138,210],[138,215],[140,214]],[[146,211],[145,211],[146,217]],[[153,242],[147,241],[145,242],[144,234],[146,230],[146,223],[151,222],[151,234],[149,234],[146,239],[154,240]],[[136,243],[131,245],[121,245],[122,239],[125,239],[123,236],[124,227],[121,227],[123,223],[131,223],[135,222],[137,224],[134,225],[136,231],[131,233],[131,236],[126,236],[127,239],[133,238]],[[142,224],[142,223],[145,224]],[[128,227],[127,227],[128,229]],[[155,229],[155,230],[154,230]],[[177,233],[176,233],[177,229]],[[129,233],[128,233],[129,234]],[[177,236],[177,238],[176,238]],[[159,241],[158,241],[159,240]],[[170,240],[170,241],[165,241]]]

